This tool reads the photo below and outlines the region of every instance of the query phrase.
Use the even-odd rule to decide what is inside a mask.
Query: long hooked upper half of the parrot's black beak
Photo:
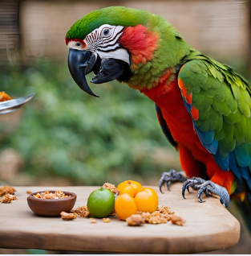
[[[91,52],[70,49],[68,56],[68,67],[72,78],[74,79],[75,83],[79,85],[80,89],[83,89],[84,92],[90,94],[91,96],[99,97],[99,95],[91,91],[85,76],[87,62],[90,59],[90,56]]]

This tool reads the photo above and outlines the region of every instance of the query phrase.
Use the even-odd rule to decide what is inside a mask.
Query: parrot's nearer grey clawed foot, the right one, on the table
[[[215,196],[219,198],[221,201],[221,204],[223,204],[225,208],[229,206],[230,196],[226,188],[213,183],[213,181],[211,180],[203,180],[201,178],[196,178],[196,177],[192,177],[192,179],[186,180],[182,187],[183,197],[184,197],[185,190],[187,189],[189,192],[190,187],[194,190],[199,190],[197,193],[197,197],[200,203],[204,202],[203,200],[201,200],[201,195],[204,192],[206,196]]]

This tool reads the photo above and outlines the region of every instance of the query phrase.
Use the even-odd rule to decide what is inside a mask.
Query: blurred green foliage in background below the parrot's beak
[[[0,81],[11,97],[36,93],[24,106],[18,129],[1,144],[1,151],[11,147],[22,155],[27,175],[100,185],[159,178],[167,171],[149,156],[156,147],[171,146],[154,103],[138,91],[114,81],[90,85],[100,98],[91,97],[75,85],[67,64],[47,61],[6,68]]]

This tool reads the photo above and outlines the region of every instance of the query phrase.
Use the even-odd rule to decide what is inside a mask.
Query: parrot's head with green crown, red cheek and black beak
[[[167,50],[165,56],[161,52],[162,41],[171,46],[175,39],[180,40],[180,34],[146,10],[123,6],[95,10],[67,31],[68,67],[80,89],[95,97],[85,77],[89,72],[95,74],[91,79],[94,84],[117,79],[132,88],[147,87],[163,72],[162,66],[167,68],[175,62],[176,47]]]

